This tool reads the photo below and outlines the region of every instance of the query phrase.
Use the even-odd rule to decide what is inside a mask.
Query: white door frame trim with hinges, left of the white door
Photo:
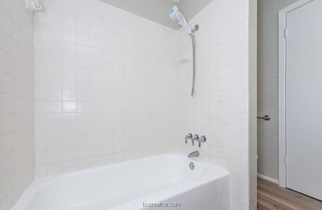
[[[278,183],[286,188],[286,14],[314,0],[300,0],[278,12]]]

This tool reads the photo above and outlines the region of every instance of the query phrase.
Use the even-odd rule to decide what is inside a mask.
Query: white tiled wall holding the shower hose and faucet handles
[[[192,62],[179,65],[179,149],[201,152],[201,159],[231,173],[231,209],[249,209],[249,1],[214,0],[189,25],[199,24],[196,86]],[[191,39],[179,30],[179,54]],[[207,142],[184,144],[189,132]]]

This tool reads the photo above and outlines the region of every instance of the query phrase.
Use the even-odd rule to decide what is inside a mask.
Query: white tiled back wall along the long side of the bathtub
[[[44,6],[34,20],[36,177],[177,150],[177,31],[99,1]]]

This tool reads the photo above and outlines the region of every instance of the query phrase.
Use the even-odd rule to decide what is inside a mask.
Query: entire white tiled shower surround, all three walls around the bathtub
[[[189,22],[200,25],[191,97],[184,29],[98,0],[43,0],[34,19],[24,1],[0,0],[2,210],[34,176],[178,150],[231,173],[233,210],[256,209],[252,2],[213,0]],[[207,142],[185,145],[189,132]]]

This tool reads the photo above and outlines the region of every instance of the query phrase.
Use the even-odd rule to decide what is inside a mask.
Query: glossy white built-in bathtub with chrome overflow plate
[[[228,210],[229,173],[182,153],[158,155],[36,179],[13,210],[154,209],[143,202],[181,205],[155,209]]]

